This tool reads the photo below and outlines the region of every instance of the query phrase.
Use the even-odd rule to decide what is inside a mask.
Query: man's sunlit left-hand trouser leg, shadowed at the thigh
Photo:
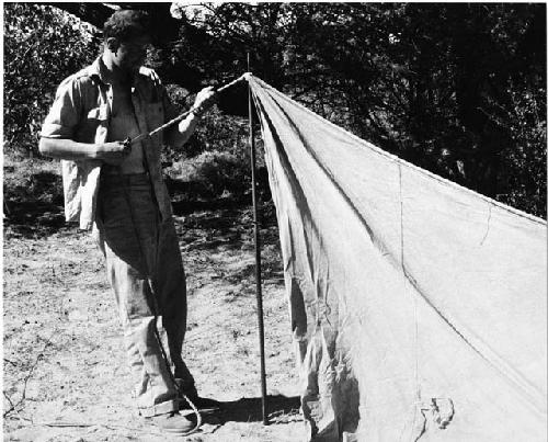
[[[158,213],[146,188],[127,192],[121,191],[119,183],[102,190],[98,227],[137,381],[137,407],[141,415],[155,416],[178,410],[178,390],[160,344],[155,294],[147,277],[157,254]],[[134,206],[132,213],[126,196]]]

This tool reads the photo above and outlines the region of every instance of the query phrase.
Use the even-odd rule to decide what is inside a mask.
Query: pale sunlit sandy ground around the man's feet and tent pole
[[[183,211],[184,212],[184,211]],[[187,211],[189,212],[189,211]],[[270,426],[262,424],[251,212],[189,212],[176,227],[187,273],[184,359],[220,400],[197,433],[161,435],[136,416],[102,256],[59,211],[12,207],[4,223],[5,441],[302,441],[277,231],[262,229]]]

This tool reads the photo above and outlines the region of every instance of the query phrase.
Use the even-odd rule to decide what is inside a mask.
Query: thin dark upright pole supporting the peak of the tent
[[[248,53],[248,71],[250,70]],[[269,424],[266,417],[266,371],[264,367],[264,322],[263,322],[263,294],[261,281],[261,237],[259,226],[259,207],[256,197],[256,170],[255,170],[255,133],[253,129],[253,98],[251,87],[248,83],[249,94],[249,144],[251,151],[251,195],[253,199],[253,226],[255,239],[255,281],[256,281],[256,317],[259,321],[259,345],[261,349],[261,393],[262,393],[262,412],[263,424]]]

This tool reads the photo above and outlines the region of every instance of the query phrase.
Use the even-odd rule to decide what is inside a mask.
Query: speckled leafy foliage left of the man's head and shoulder
[[[38,133],[60,81],[91,63],[91,29],[56,8],[4,3],[4,149],[37,151]]]

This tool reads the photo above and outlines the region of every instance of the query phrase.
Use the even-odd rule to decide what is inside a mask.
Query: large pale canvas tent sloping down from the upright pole
[[[255,77],[315,441],[546,441],[546,223]]]

